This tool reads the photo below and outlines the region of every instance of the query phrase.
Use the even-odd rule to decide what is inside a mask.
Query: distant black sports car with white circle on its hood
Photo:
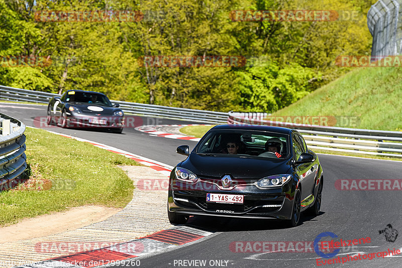
[[[61,97],[53,97],[47,107],[47,124],[61,127],[99,127],[121,133],[124,113],[119,104],[99,92],[68,90]]]

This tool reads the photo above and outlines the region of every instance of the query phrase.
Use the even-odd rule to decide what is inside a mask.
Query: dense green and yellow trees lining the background
[[[375,1],[0,0],[0,84],[219,111],[272,112],[347,70],[338,55],[368,55],[366,14]],[[140,11],[136,21],[38,21],[40,11]],[[342,10],[357,20],[236,21],[234,10]],[[52,15],[53,16],[53,15]],[[50,65],[10,67],[7,56]],[[143,66],[157,55],[238,55],[243,67]]]

